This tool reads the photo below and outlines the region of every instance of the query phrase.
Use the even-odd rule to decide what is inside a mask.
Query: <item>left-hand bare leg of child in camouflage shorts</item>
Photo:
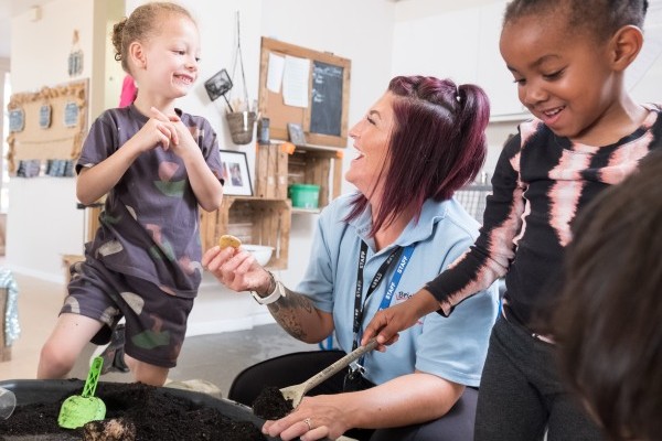
[[[64,313],[41,349],[36,378],[64,378],[89,340],[102,329],[102,322],[84,315]]]

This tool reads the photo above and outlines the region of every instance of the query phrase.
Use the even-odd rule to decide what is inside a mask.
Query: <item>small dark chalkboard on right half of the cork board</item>
[[[310,131],[340,136],[342,118],[342,66],[312,63]]]

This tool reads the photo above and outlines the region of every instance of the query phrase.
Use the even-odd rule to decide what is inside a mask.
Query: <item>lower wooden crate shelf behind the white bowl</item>
[[[200,237],[203,250],[231,234],[244,244],[274,247],[268,268],[286,269],[289,251],[291,203],[288,200],[225,196],[223,207],[202,212]]]

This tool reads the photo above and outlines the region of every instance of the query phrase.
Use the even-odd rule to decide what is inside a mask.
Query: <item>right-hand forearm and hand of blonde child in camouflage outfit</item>
[[[200,206],[207,212],[218,208],[223,203],[223,185],[204,160],[189,128],[177,116],[168,117],[153,107],[151,110],[154,118],[171,122],[175,128],[178,140],[170,148],[184,161],[189,182]]]

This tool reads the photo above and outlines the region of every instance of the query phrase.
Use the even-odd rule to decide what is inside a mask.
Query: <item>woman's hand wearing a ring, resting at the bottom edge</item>
[[[267,421],[263,433],[282,440],[303,441],[337,439],[351,429],[348,419],[348,394],[303,397],[297,409],[277,421]],[[344,402],[344,405],[343,405]]]

